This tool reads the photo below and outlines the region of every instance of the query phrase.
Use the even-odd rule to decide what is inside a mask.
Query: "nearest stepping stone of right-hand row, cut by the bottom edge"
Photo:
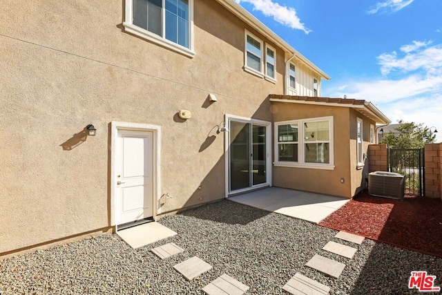
[[[302,274],[298,272],[282,289],[294,295],[324,295],[330,292],[330,287],[318,283],[311,278],[307,278],[307,276],[302,276]]]

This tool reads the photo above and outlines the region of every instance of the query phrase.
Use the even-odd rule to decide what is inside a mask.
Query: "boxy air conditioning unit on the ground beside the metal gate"
[[[368,194],[403,201],[405,181],[402,174],[376,171],[368,174]]]

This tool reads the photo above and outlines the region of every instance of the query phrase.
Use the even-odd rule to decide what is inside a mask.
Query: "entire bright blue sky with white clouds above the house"
[[[442,142],[441,0],[235,1],[332,77],[322,96],[365,99]]]

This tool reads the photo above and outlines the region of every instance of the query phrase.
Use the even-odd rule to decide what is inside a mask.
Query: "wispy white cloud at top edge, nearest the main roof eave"
[[[306,28],[304,23],[301,23],[298,15],[296,15],[295,8],[281,6],[279,3],[272,0],[234,0],[236,3],[249,3],[253,6],[253,10],[262,12],[266,17],[272,17],[283,26],[287,26],[296,30],[303,30],[306,34],[311,32]]]

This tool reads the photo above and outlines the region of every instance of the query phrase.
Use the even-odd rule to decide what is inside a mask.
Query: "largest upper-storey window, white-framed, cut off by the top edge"
[[[193,57],[193,0],[126,0],[127,32]]]

